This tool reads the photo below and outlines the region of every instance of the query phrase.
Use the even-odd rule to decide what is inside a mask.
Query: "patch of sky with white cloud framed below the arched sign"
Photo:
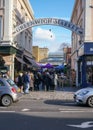
[[[52,31],[40,27],[33,29],[33,46],[47,47],[49,52],[59,50],[63,42],[70,43],[69,39],[70,34],[64,32],[61,28],[52,28]]]

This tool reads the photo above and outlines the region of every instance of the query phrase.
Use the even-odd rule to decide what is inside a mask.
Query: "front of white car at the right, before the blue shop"
[[[77,104],[86,104],[93,107],[93,88],[87,87],[74,93],[74,100]]]

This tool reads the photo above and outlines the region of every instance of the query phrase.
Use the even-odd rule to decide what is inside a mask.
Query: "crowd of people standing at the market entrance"
[[[58,76],[56,72],[19,72],[15,82],[20,88],[21,93],[29,91],[49,91],[57,87]]]

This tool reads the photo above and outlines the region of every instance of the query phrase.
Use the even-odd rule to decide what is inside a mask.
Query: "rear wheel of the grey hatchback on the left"
[[[1,103],[3,106],[10,106],[12,102],[12,98],[9,95],[4,95],[1,99]]]

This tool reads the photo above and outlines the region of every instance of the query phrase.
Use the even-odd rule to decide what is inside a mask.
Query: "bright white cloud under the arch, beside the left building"
[[[47,40],[47,41],[54,41],[55,34],[51,32],[51,30],[46,30],[42,28],[37,28],[34,32],[34,39],[38,40]]]

